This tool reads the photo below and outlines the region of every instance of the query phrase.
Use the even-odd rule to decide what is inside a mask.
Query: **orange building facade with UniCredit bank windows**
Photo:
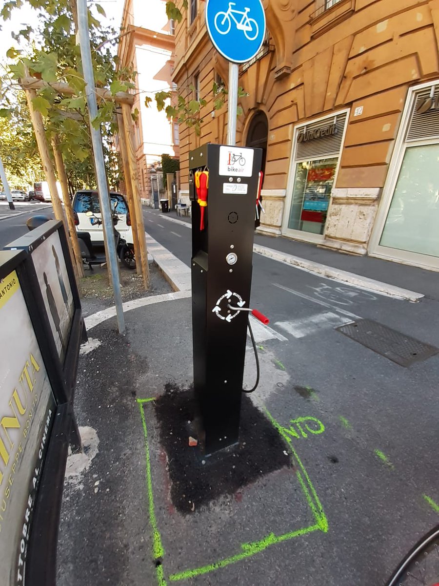
[[[227,86],[228,64],[204,5],[180,6],[176,28],[173,81],[207,101],[200,136],[180,125],[180,197],[190,149],[227,136],[212,87]],[[258,230],[439,270],[439,0],[263,5],[267,36],[240,67],[237,131],[238,145],[264,152]]]

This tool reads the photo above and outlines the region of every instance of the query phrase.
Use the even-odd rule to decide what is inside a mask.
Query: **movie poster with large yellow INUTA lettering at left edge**
[[[0,584],[21,586],[55,403],[15,271],[0,281]]]

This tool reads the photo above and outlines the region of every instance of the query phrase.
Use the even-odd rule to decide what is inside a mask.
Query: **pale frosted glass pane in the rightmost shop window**
[[[439,145],[406,149],[380,245],[439,257]]]

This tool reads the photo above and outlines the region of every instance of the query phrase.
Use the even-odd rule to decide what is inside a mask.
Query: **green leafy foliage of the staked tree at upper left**
[[[0,117],[16,117],[15,94],[19,80],[29,74],[42,79],[47,86],[37,90],[33,107],[44,117],[47,137],[60,137],[66,169],[71,185],[75,188],[95,186],[91,137],[85,99],[85,81],[81,69],[80,48],[76,45],[73,13],[69,0],[11,0],[5,2],[0,16],[7,19],[13,9],[28,2],[39,10],[37,26],[28,26],[18,31],[16,40],[25,40],[25,52],[11,47],[6,53],[9,74],[0,79]],[[112,95],[134,87],[134,72],[118,67],[115,46],[115,30],[102,26],[98,16],[104,9],[97,4],[95,12],[88,12],[92,62],[95,84]],[[65,96],[53,87],[55,82],[67,83],[74,88],[73,96]],[[121,173],[114,150],[112,135],[116,131],[114,116],[116,104],[112,100],[100,100],[98,116],[92,121],[95,128],[101,127],[104,142],[105,162],[109,183],[115,186]]]

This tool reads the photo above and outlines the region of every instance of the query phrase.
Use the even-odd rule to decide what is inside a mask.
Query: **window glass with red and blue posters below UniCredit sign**
[[[288,227],[323,234],[338,157],[296,164]]]

